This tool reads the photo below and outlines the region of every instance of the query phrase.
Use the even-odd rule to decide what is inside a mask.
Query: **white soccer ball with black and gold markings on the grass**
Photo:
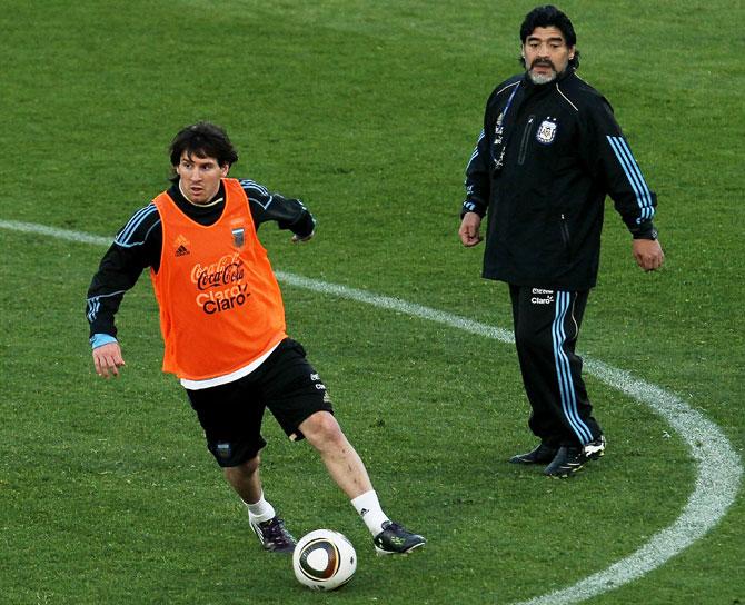
[[[357,553],[339,532],[316,529],[295,547],[292,569],[300,584],[314,591],[335,591],[355,575]]]

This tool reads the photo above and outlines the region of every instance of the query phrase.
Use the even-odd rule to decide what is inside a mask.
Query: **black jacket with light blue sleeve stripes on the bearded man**
[[[494,90],[461,212],[488,215],[484,277],[595,286],[606,195],[635,238],[656,238],[656,196],[599,92],[572,68],[547,85],[522,75]]]

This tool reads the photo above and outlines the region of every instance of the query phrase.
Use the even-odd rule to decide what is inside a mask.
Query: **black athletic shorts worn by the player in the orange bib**
[[[222,467],[250,460],[267,445],[261,437],[265,408],[292,440],[302,439],[298,427],[308,416],[334,413],[305,349],[290,338],[248,376],[227,385],[187,389],[187,395],[205,429],[207,447]]]

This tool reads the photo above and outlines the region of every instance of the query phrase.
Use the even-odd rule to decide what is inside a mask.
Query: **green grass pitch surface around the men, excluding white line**
[[[18,230],[112,237],[166,187],[172,135],[210,119],[241,153],[234,176],[317,216],[307,246],[261,230],[278,270],[508,328],[506,287],[480,279],[483,248],[460,246],[457,215],[484,102],[519,69],[533,6],[0,2],[1,604],[527,602],[643,548],[695,489],[722,495],[699,477],[724,482],[724,467],[697,462],[670,421],[595,375],[606,457],[567,482],[514,468],[506,459],[533,438],[510,345],[285,284],[289,330],[384,507],[429,540],[377,558],[309,446],[267,417],[267,496],[297,536],[331,527],[359,556],[342,591],[310,593],[287,558],[260,551],[181,388],[160,373],[149,280],[120,311],[123,376],[100,380],[83,307],[105,246]],[[737,490],[745,11],[724,0],[560,7],[580,75],[614,105],[659,196],[667,255],[663,271],[639,271],[608,204],[579,348],[717,427]],[[745,500],[734,499],[703,507],[712,527],[692,545],[592,602],[745,602]]]

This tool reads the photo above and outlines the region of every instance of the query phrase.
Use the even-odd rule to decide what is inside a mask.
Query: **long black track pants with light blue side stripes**
[[[509,286],[515,345],[533,411],[528,426],[543,443],[584,445],[602,430],[575,354],[588,291]]]

